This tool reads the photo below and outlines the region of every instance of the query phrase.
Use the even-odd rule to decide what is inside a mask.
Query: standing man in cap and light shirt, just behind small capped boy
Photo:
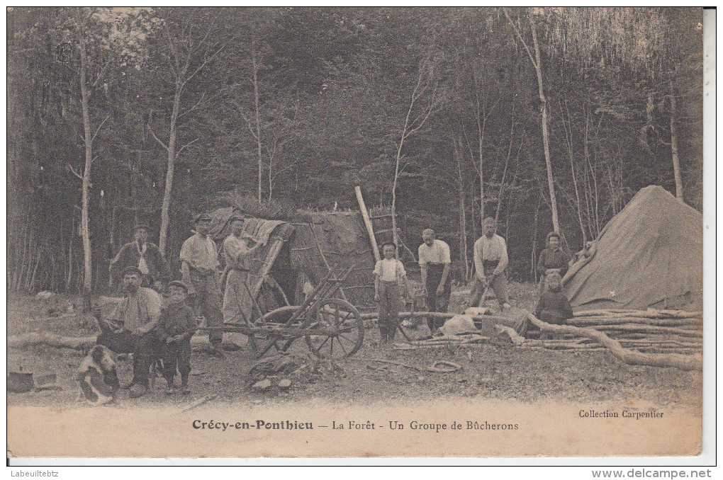
[[[209,327],[223,326],[221,317],[221,292],[218,283],[218,250],[213,238],[208,235],[211,217],[200,214],[194,219],[196,232],[181,247],[181,274],[188,294],[194,297],[197,315],[203,315]],[[221,350],[221,331],[210,331],[208,339],[213,347],[212,353],[223,357]]]

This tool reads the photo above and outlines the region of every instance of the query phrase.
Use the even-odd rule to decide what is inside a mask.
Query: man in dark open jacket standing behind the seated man
[[[163,284],[171,279],[168,263],[161,255],[161,251],[148,240],[150,228],[145,222],[137,222],[134,227],[134,240],[123,245],[118,255],[111,261],[111,276],[114,282],[119,282],[121,272],[128,266],[140,270],[143,287],[155,287],[160,290]]]

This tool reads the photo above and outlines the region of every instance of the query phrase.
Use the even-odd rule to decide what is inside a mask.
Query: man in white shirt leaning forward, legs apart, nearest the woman
[[[492,287],[497,301],[500,302],[500,310],[510,307],[510,298],[507,292],[507,279],[505,268],[509,263],[507,256],[507,243],[505,239],[497,235],[497,222],[492,217],[487,217],[482,222],[484,235],[474,243],[474,269],[476,274],[472,282],[469,305],[471,307],[481,306],[482,294],[487,286]]]

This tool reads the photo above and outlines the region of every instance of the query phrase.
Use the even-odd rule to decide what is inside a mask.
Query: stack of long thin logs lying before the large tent
[[[567,325],[594,328],[626,349],[646,353],[696,354],[703,350],[703,313],[680,310],[584,310]],[[598,341],[575,333],[554,339],[529,339],[525,346],[547,349],[604,349]]]

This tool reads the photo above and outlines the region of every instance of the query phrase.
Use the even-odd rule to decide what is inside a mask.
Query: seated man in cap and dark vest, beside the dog
[[[142,275],[135,266],[124,269],[123,300],[108,318],[104,319],[100,310],[94,312],[100,327],[96,343],[116,354],[133,354],[133,379],[127,387],[131,398],[140,397],[148,390],[148,371],[157,349],[153,330],[162,307],[161,296],[155,290],[140,286]]]

